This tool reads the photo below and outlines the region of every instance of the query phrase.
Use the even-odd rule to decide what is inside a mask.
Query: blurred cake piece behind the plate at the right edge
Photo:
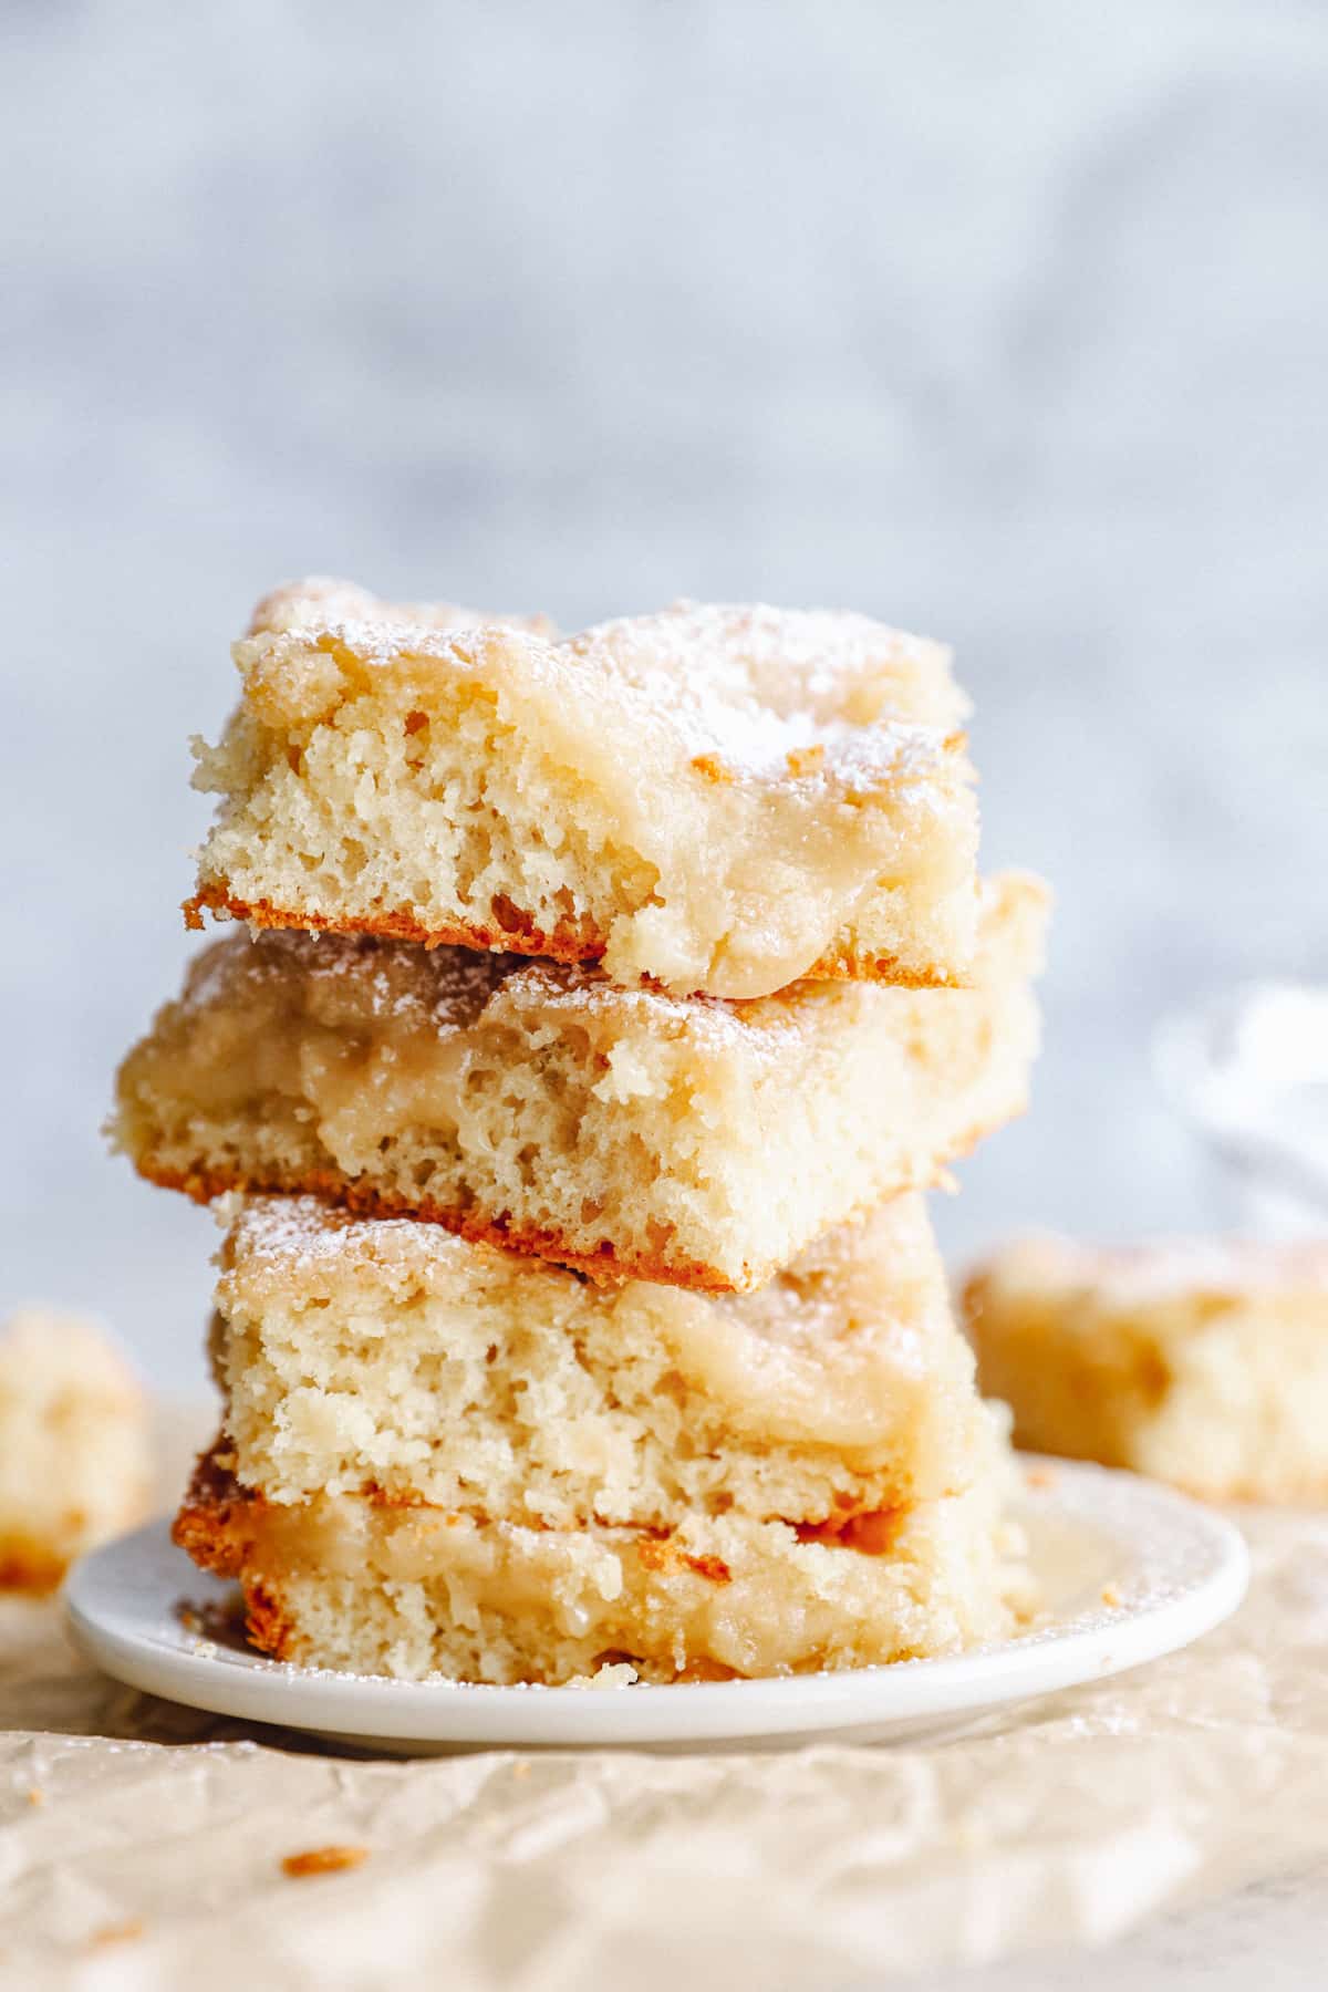
[[[964,1313],[1019,1444],[1207,1500],[1328,1500],[1328,1243],[1025,1239]]]

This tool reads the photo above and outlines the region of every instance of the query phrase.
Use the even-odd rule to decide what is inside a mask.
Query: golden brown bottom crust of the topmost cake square
[[[490,954],[538,954],[550,962],[563,962],[569,968],[601,962],[607,938],[593,924],[589,914],[579,922],[565,920],[552,932],[536,926],[528,912],[502,902],[504,912],[496,926],[454,922],[446,926],[424,926],[408,912],[380,912],[370,916],[329,918],[321,912],[291,912],[273,906],[267,898],[233,898],[223,886],[199,886],[193,898],[181,902],[185,926],[201,932],[203,912],[219,920],[247,920],[251,926],[297,928],[317,934],[376,934],[380,940],[414,940],[424,948],[480,948]],[[510,924],[506,924],[510,922]],[[894,954],[860,954],[856,948],[832,948],[818,956],[798,982],[888,982],[892,988],[930,990],[958,988],[960,980],[944,968],[930,966],[904,968]]]

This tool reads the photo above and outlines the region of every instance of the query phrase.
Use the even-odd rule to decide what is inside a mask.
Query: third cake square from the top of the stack
[[[755,1295],[561,1267],[313,1199],[237,1217],[213,1363],[237,1480],[542,1528],[844,1526],[968,1486],[982,1406],[920,1197]]]

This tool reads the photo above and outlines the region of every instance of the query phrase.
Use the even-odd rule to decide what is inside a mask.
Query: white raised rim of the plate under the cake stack
[[[119,1580],[123,1596],[123,1574],[147,1556],[161,1556],[169,1544],[165,1518],[82,1558],[66,1580],[64,1614],[74,1643],[102,1671],[215,1715],[360,1743],[621,1747],[846,1735],[906,1729],[928,1717],[978,1717],[1163,1659],[1213,1631],[1240,1606],[1250,1574],[1248,1548],[1224,1514],[1161,1482],[1085,1460],[1019,1454],[1017,1466],[1023,1486],[1015,1518],[1019,1510],[1041,1510],[1055,1520],[1093,1526],[1093,1512],[1105,1506],[1123,1510],[1117,1526],[1129,1526],[1131,1518],[1153,1528],[1161,1522],[1173,1554],[1181,1548],[1195,1556],[1195,1576],[1153,1602],[1079,1614],[968,1653],[741,1681],[637,1683],[627,1691],[398,1681],[297,1667],[203,1639],[187,1647],[183,1629],[181,1643],[147,1629],[125,1633],[108,1621],[98,1594]],[[1041,1488],[1039,1476],[1047,1480]],[[1147,1544],[1147,1536],[1143,1540]],[[183,1552],[173,1554],[183,1558]],[[191,1584],[219,1582],[193,1566],[187,1570]],[[285,1699],[291,1711],[281,1709]]]

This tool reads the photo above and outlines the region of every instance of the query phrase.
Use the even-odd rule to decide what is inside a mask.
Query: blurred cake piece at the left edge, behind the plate
[[[20,1309],[0,1327],[0,1588],[46,1592],[84,1550],[143,1520],[145,1394],[108,1331]]]

